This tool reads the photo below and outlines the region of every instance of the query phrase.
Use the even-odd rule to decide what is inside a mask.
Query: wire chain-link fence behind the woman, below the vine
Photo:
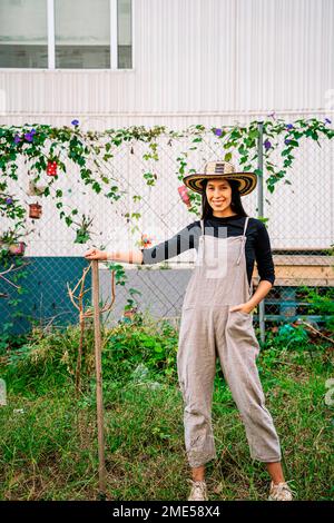
[[[26,294],[17,296],[17,289],[0,279],[0,293],[7,296],[0,300],[2,324],[12,322],[13,310],[18,309],[23,318],[29,316],[43,324],[75,320],[77,313],[66,284],[73,286],[80,278],[87,266],[82,255],[88,247],[130,250],[143,247],[141,235],[147,235],[155,245],[199,219],[180,199],[181,178],[190,169],[200,171],[207,161],[223,159],[226,150],[224,139],[212,131],[198,137],[184,132],[171,139],[170,135],[163,134],[154,140],[154,147],[148,141],[129,140],[114,147],[109,151],[111,158],[102,160],[99,155],[97,162],[97,158],[90,157],[86,167],[99,181],[99,193],[84,184],[79,167],[70,162],[63,151],[60,159],[67,172],[58,174],[48,198],[33,196],[31,180],[36,171],[21,157],[18,180],[10,180],[9,191],[27,206],[42,205],[42,215],[40,219],[28,218],[28,231],[33,230],[27,236],[27,250],[21,260],[27,264],[21,280]],[[104,146],[101,139],[99,147]],[[273,151],[273,162],[282,162],[279,150],[277,147]],[[243,170],[237,154],[230,161],[237,170]],[[183,164],[185,172],[180,174]],[[291,322],[301,314],[311,322],[321,320],[304,302],[301,287],[306,285],[324,293],[333,284],[333,164],[331,140],[320,139],[318,145],[304,139],[288,170],[288,182],[281,180],[272,194],[264,172],[261,200],[261,184],[257,190],[243,198],[249,216],[263,214],[268,218],[276,275],[275,285],[263,302],[263,313],[259,310],[263,317],[255,313],[255,322]],[[258,157],[253,159],[252,167],[258,167]],[[45,174],[38,185],[47,182]],[[71,214],[73,209],[77,214]],[[76,224],[68,227],[59,217],[61,211],[71,216]],[[82,225],[84,215],[87,221],[91,220],[90,239],[85,244],[75,243],[76,227]],[[1,230],[10,225],[10,220],[3,219]],[[150,266],[124,264],[125,285],[116,285],[115,306],[105,319],[110,324],[118,322],[125,305],[132,303],[128,302],[130,299],[143,313],[177,320],[195,255],[191,249]],[[253,278],[256,288],[256,267]],[[105,264],[100,264],[100,285],[102,300],[106,300],[110,296],[110,269]],[[13,305],[9,306],[10,302],[14,302]],[[24,325],[20,315],[17,323]]]

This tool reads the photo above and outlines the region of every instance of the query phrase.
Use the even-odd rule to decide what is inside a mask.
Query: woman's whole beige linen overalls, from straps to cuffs
[[[200,220],[202,236],[181,307],[177,352],[185,447],[191,467],[217,457],[212,426],[217,357],[244,423],[250,457],[268,463],[282,458],[256,366],[259,345],[253,314],[229,310],[253,294],[245,257],[248,218],[242,236],[225,238],[205,235]]]

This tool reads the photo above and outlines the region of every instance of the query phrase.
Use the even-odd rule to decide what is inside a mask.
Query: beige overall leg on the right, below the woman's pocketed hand
[[[225,336],[220,333],[218,352],[226,382],[244,422],[253,460],[279,462],[279,440],[265,397],[256,366],[259,345],[253,317],[239,310],[226,312]],[[224,332],[223,332],[224,333]],[[222,348],[219,348],[222,345]]]

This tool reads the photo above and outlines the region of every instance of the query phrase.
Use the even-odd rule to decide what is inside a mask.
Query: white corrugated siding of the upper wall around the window
[[[333,0],[134,0],[134,70],[0,70],[1,120],[328,112],[333,29]]]

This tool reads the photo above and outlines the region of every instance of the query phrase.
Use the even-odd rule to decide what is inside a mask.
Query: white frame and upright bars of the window
[[[105,68],[56,68],[56,41],[55,41],[55,0],[47,1],[47,28],[48,28],[48,68],[43,67],[0,67],[0,71],[45,71],[45,72],[126,72],[135,70],[135,4],[136,0],[131,0],[131,68],[118,68],[118,2],[117,0],[109,0],[110,10],[110,67]]]

